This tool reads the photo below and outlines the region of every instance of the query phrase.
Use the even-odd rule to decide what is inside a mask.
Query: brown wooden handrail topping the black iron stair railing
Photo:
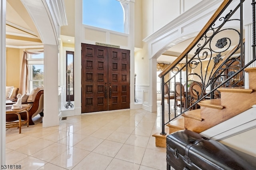
[[[180,61],[184,58],[184,56],[198,43],[201,39],[201,37],[205,34],[205,32],[212,26],[212,24],[215,22],[215,20],[218,18],[218,16],[223,12],[223,10],[226,9],[226,7],[232,2],[232,0],[224,0],[220,7],[214,12],[210,20],[206,23],[204,28],[199,32],[199,34],[194,38],[194,40],[188,45],[188,47],[177,57],[177,59],[172,62],[162,73],[158,75],[158,77],[163,77],[166,75],[175,65],[180,63]]]

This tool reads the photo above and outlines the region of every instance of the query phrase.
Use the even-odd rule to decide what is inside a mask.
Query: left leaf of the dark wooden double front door
[[[82,113],[107,110],[107,68],[106,47],[82,45]]]

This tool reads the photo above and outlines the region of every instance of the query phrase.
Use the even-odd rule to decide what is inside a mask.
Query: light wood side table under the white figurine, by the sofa
[[[22,125],[27,124],[27,127],[29,126],[29,119],[28,119],[28,109],[30,109],[30,105],[22,105],[22,109],[16,109],[12,110],[11,108],[8,108],[6,106],[6,115],[7,114],[16,114],[18,116],[18,121],[13,121],[13,122],[6,122],[6,128],[12,128],[12,127],[19,127],[20,133],[21,133],[21,127]],[[20,113],[26,111],[27,113],[27,120],[21,120]]]

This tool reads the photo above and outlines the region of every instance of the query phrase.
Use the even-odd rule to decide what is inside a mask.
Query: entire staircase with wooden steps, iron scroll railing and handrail
[[[180,113],[176,115],[176,97],[182,98],[182,95],[174,95],[174,119],[170,119],[169,116],[169,119],[166,120],[164,93],[162,93],[162,132],[152,135],[156,138],[156,146],[166,147],[166,136],[172,132],[188,129],[200,133],[243,113],[256,104],[256,67],[247,68],[256,61],[256,36],[253,36],[252,40],[253,54],[247,63],[244,62],[245,40],[243,30],[235,30],[238,33],[236,39],[233,39],[234,36],[229,37],[229,34],[219,36],[219,33],[234,31],[234,29],[225,25],[228,25],[230,21],[237,21],[240,28],[243,26],[243,10],[241,7],[244,0],[234,0],[233,4],[232,2],[232,0],[224,0],[192,43],[158,75],[161,78],[162,91],[164,91],[166,84],[170,88],[176,82],[180,84],[185,82],[188,85],[191,81],[197,81],[202,85],[202,95],[198,91],[198,96],[193,98],[188,93],[188,87],[185,86],[187,92],[184,101],[194,104],[188,107],[188,103],[186,103],[186,107],[183,109],[180,107]],[[237,6],[234,5],[235,2],[238,3]],[[233,10],[228,9],[231,4],[235,6]],[[255,35],[256,30],[255,5],[256,3],[253,1],[252,35]],[[240,12],[240,18],[234,20],[232,15],[236,11]],[[209,35],[209,32],[212,34]],[[239,42],[236,45],[232,44],[237,40]],[[180,67],[184,59],[186,59],[186,63],[183,63],[184,66]],[[186,77],[182,78],[182,71],[184,70]],[[195,72],[196,70],[198,72]],[[165,76],[170,75],[170,73],[170,79],[166,81]],[[242,87],[244,82],[247,81],[245,80],[245,73],[248,74],[248,89]],[[176,93],[177,91],[178,93]],[[174,94],[184,93],[182,91],[184,89],[181,87],[180,90],[174,88]],[[206,93],[206,91],[209,92]],[[218,92],[217,95],[216,92]],[[199,105],[200,109],[191,110],[195,105]],[[168,114],[170,114],[170,109]]]

